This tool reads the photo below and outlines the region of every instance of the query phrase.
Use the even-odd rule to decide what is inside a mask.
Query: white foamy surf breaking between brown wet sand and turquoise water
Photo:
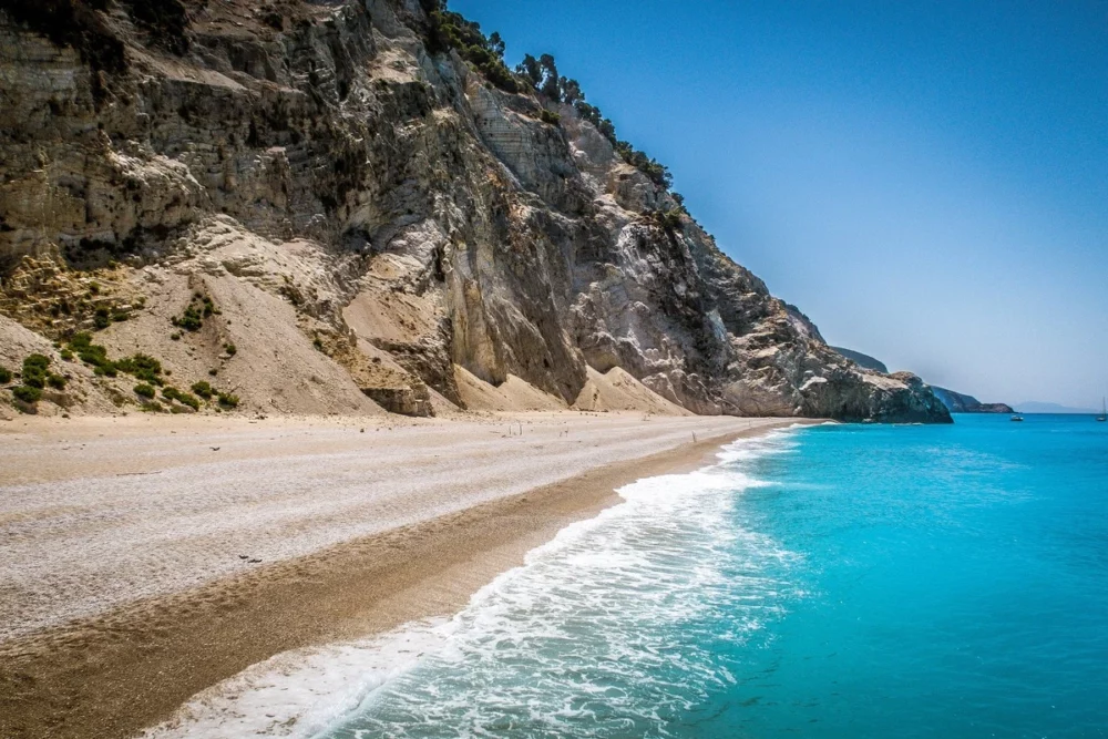
[[[639,480],[483,587],[447,623],[290,653],[201,694],[150,737],[667,736],[735,680],[712,645],[780,616],[794,554],[736,525],[747,468],[789,432],[719,463]]]

